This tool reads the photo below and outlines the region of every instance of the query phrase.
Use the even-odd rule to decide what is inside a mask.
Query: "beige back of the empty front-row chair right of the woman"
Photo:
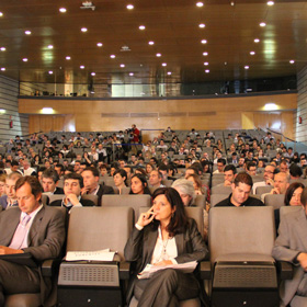
[[[274,209],[263,207],[215,207],[209,211],[212,263],[225,254],[271,255],[275,240]]]

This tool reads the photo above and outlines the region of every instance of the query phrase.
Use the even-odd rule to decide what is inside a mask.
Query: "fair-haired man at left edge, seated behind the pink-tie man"
[[[3,209],[16,207],[19,205],[15,192],[15,184],[21,177],[21,173],[12,172],[5,178],[5,195],[0,197],[0,205]]]

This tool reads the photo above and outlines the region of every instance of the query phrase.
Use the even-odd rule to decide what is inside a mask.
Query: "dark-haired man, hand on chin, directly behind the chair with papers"
[[[49,206],[61,206],[69,213],[72,207],[94,206],[90,200],[81,198],[81,189],[83,187],[83,178],[79,173],[68,173],[64,177],[64,193],[62,200],[54,201]]]

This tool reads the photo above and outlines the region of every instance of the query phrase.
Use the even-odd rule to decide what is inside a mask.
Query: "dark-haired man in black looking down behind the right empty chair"
[[[235,206],[235,207],[246,207],[246,206],[264,206],[264,204],[258,198],[250,197],[250,192],[252,187],[252,179],[248,173],[238,173],[231,184],[232,193],[228,198],[216,204],[216,207]]]

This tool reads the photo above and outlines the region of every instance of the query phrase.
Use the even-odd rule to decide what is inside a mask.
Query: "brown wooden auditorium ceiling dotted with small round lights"
[[[269,4],[1,1],[0,73],[20,81],[75,83],[89,78],[158,83],[296,75],[307,62],[307,1]]]

